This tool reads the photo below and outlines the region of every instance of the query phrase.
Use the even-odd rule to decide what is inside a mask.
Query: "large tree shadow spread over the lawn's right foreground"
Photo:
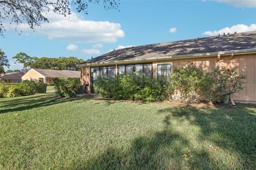
[[[160,109],[158,114],[165,114],[162,131],[135,138],[126,150],[109,147],[71,169],[256,169],[256,116],[250,108],[255,106]],[[195,147],[184,134],[174,130],[172,118],[199,127],[201,131],[195,136],[199,145],[212,143],[227,150],[227,155],[216,156],[218,153],[209,150],[209,146]],[[234,152],[238,159],[229,163],[227,157],[232,159]]]

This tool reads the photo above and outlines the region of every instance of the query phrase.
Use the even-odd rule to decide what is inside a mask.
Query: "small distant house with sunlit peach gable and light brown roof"
[[[30,69],[22,76],[23,80],[38,80],[44,83],[51,83],[52,78],[80,78],[79,71],[69,70],[45,70],[45,69]]]

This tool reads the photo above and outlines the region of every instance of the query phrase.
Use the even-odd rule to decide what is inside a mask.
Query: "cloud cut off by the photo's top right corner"
[[[256,7],[256,0],[214,0],[217,2],[226,3],[235,7]]]

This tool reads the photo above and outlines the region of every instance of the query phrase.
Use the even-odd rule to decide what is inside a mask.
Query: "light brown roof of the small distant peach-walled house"
[[[80,78],[79,71],[34,69],[46,78]]]

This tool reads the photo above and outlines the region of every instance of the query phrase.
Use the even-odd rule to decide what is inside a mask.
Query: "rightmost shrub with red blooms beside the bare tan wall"
[[[227,95],[243,89],[243,79],[245,76],[238,74],[235,67],[212,68],[212,71],[205,75],[203,96],[210,103],[223,101]]]

